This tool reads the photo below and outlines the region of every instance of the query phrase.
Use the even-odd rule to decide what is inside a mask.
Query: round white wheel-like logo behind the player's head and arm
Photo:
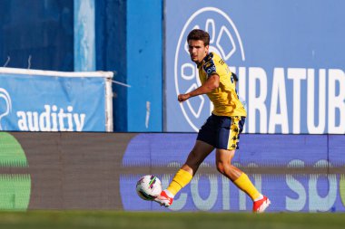
[[[198,69],[191,62],[186,41],[186,37],[192,29],[202,29],[210,33],[210,52],[218,53],[225,62],[229,62],[236,53],[242,62],[245,60],[240,34],[229,15],[215,7],[205,7],[196,11],[184,24],[175,52],[176,95],[193,91],[201,86]],[[195,131],[198,131],[201,121],[204,120],[201,117],[202,109],[209,106],[210,113],[213,109],[211,102],[205,103],[205,96],[200,95],[195,98],[196,100],[180,103],[184,118]]]

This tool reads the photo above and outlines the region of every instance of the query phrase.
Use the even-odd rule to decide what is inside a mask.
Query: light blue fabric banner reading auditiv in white
[[[2,70],[0,130],[106,131],[106,83],[99,72]]]

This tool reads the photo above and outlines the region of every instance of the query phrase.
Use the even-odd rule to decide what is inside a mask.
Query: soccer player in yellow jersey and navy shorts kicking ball
[[[228,65],[219,55],[209,52],[209,33],[194,29],[188,34],[187,42],[192,62],[197,64],[202,86],[178,95],[177,100],[183,102],[194,96],[207,94],[214,109],[199,130],[187,160],[170,185],[154,201],[164,206],[172,205],[173,196],[192,180],[204,158],[216,148],[217,170],[251,197],[253,212],[264,212],[271,201],[258,192],[242,170],[232,166],[232,157],[236,148],[239,148],[240,133],[247,115],[235,89],[237,76],[230,72]]]

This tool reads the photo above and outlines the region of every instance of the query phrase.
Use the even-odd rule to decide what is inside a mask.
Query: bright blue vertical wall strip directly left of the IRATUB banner
[[[127,1],[128,131],[162,131],[163,1]]]

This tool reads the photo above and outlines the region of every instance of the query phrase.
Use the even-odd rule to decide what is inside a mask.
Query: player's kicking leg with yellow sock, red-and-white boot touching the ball
[[[197,140],[192,151],[188,155],[186,162],[173,177],[173,181],[165,190],[163,190],[161,196],[157,196],[154,201],[164,206],[172,205],[173,197],[184,186],[191,182],[192,177],[202,164],[202,161],[212,152],[212,150],[213,147],[211,145],[201,140]]]

